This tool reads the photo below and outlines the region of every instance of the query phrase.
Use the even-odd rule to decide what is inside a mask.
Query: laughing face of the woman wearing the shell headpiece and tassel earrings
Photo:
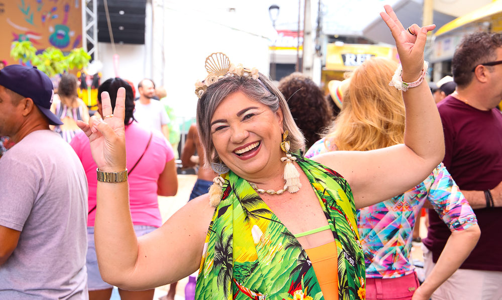
[[[219,157],[234,173],[259,179],[273,175],[275,170],[265,167],[279,165],[284,156],[280,148],[282,123],[281,111],[274,113],[242,92],[234,92],[216,108],[211,137]]]

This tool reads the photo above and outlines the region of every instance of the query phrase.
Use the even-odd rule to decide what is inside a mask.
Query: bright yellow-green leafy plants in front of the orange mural
[[[49,47],[36,55],[37,49],[30,41],[13,42],[11,57],[23,63],[30,61],[49,77],[62,74],[70,69],[82,69],[89,64],[90,55],[83,48],[75,48],[65,56],[60,49]]]

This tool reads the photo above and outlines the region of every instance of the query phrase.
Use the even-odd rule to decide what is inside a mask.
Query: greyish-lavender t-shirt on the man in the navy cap
[[[0,299],[87,299],[87,178],[71,146],[37,130],[0,159],[0,225],[21,231]]]

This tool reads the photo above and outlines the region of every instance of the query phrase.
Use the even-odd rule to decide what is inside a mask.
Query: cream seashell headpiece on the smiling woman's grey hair
[[[257,68],[244,68],[242,64],[235,66],[230,63],[228,56],[221,52],[212,53],[206,57],[205,67],[207,71],[207,77],[200,81],[195,82],[195,94],[197,97],[202,98],[202,95],[206,92],[207,88],[218,82],[218,80],[239,76],[244,78],[252,78],[257,80],[260,77]]]

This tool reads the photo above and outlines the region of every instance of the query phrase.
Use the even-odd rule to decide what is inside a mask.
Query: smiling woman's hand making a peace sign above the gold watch
[[[120,87],[117,92],[115,109],[112,111],[110,95],[101,93],[104,120],[93,116],[89,124],[77,121],[90,141],[92,158],[103,172],[121,172],[126,169],[126,137],[124,116],[126,112],[126,89]],[[113,114],[113,117],[108,117]]]

